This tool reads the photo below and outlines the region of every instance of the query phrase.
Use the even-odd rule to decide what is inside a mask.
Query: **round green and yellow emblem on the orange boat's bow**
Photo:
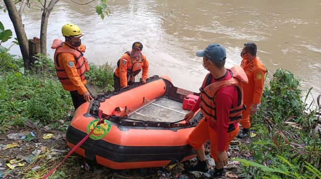
[[[87,126],[87,134],[90,133],[90,131],[96,126],[97,122],[99,119],[95,119],[91,121],[88,126]],[[104,138],[112,128],[112,124],[108,120],[104,120],[103,124],[100,124],[99,126],[96,127],[96,129],[90,134],[90,138],[94,140],[99,140]]]

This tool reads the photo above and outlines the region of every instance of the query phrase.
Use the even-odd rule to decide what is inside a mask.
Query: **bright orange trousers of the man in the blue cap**
[[[238,134],[239,128],[237,127],[234,131],[228,133],[227,140],[225,141],[225,151],[229,150],[229,145],[233,138]],[[188,136],[188,144],[193,147],[194,150],[200,150],[204,143],[209,139],[210,142],[210,155],[217,162],[217,144],[219,134],[209,126],[209,120],[205,121],[204,118],[195,127],[192,133]]]

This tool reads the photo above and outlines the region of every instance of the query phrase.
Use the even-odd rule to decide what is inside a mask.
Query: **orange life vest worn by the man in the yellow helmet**
[[[52,48],[53,49],[56,48],[55,55],[54,55],[55,68],[56,68],[56,73],[60,82],[64,85],[72,85],[72,82],[69,80],[69,77],[66,73],[65,68],[61,64],[59,64],[58,55],[60,53],[70,53],[74,56],[77,73],[80,79],[84,80],[86,78],[85,73],[89,71],[89,66],[88,66],[86,57],[84,57],[83,52],[80,51],[78,48],[69,46],[58,39],[56,40],[55,40],[56,42],[54,41],[54,44],[56,45],[53,44]],[[57,45],[57,43],[60,43],[60,45]],[[68,46],[69,48],[62,47],[63,44]]]

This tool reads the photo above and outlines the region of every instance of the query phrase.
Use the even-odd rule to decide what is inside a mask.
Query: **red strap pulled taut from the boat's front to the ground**
[[[47,175],[45,175],[42,179],[47,179],[71,154],[73,154],[87,139],[88,137],[92,134],[92,132],[96,129],[96,127],[100,124],[104,123],[104,120],[110,117],[110,115],[105,116],[104,118],[101,118],[102,111],[98,111],[98,118],[99,121],[97,122],[96,126],[90,131],[89,134],[87,134],[77,145],[74,146],[74,148],[71,149],[71,151],[62,159],[62,161],[55,167],[53,168]]]

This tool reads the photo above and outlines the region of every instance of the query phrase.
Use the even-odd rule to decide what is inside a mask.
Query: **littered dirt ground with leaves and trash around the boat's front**
[[[70,121],[61,121],[61,124],[56,126],[29,124],[29,127],[11,128],[5,134],[0,134],[0,179],[39,179],[46,175],[70,151],[65,140],[68,122]],[[32,137],[30,132],[36,136]],[[54,135],[50,136],[50,134]],[[24,136],[26,136],[25,139]],[[223,179],[241,178],[238,177],[239,164],[233,159],[237,156],[249,157],[250,154],[240,152],[238,147],[240,142],[246,141],[235,140],[231,143],[229,150],[231,163],[226,167],[227,174]],[[205,149],[208,158],[208,144],[205,145]],[[183,164],[195,162],[196,158],[193,158],[190,161],[166,167],[112,170],[97,164],[86,164],[82,157],[73,154],[57,169],[51,179],[202,179],[204,177],[198,172],[183,171]],[[213,169],[212,159],[208,160],[208,166]]]

